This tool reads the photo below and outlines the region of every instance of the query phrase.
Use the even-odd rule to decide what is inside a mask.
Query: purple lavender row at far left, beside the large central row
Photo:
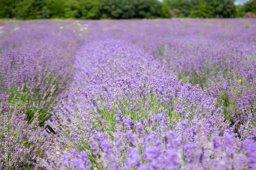
[[[44,122],[66,98],[73,56],[83,38],[74,32],[73,22],[65,23],[70,30],[63,31],[54,22],[1,24],[0,127],[6,134],[0,137],[0,167],[35,167],[37,156],[47,150],[44,144],[52,140]],[[2,113],[8,113],[6,122]]]

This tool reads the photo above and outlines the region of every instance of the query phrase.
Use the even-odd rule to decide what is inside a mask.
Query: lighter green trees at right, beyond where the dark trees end
[[[235,18],[246,13],[256,14],[256,0],[234,5],[235,0],[164,0],[173,17]]]

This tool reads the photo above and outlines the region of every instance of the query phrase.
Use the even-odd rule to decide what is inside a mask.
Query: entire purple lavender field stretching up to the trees
[[[0,169],[256,169],[256,20],[0,22]]]

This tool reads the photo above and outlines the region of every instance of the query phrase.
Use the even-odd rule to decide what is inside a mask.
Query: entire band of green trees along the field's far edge
[[[0,0],[0,18],[230,18],[256,14],[256,0]]]

